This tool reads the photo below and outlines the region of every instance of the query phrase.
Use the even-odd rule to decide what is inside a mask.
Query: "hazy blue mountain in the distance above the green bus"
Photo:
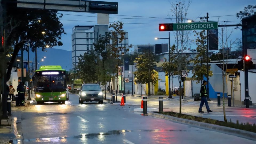
[[[21,54],[21,51],[19,51],[19,54]],[[24,54],[24,60],[27,60],[27,51],[23,52]],[[37,48],[37,60],[38,60],[38,69],[42,65],[60,65],[62,69],[65,69],[66,71],[69,71],[72,69],[72,52],[62,49],[54,49],[49,48],[45,49],[45,51],[42,51],[41,48]],[[19,55],[20,56],[20,55]],[[43,58],[46,57],[46,58]],[[29,61],[32,62],[33,58],[35,58],[35,53],[29,51]],[[43,61],[41,61],[43,59]]]

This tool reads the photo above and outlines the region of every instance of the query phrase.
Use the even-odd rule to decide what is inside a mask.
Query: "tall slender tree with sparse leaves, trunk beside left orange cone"
[[[119,55],[121,51],[129,51],[129,48],[133,47],[133,45],[129,45],[128,47],[120,46],[118,43],[121,43],[125,39],[125,32],[123,30],[123,22],[117,21],[113,24],[109,25],[109,28],[112,28],[113,30],[110,30],[111,34],[111,41],[110,49],[113,51],[111,54],[114,58],[117,58],[117,65],[116,65],[116,77],[117,77],[117,90],[118,90],[118,70],[119,70]],[[117,101],[117,96],[116,96]]]

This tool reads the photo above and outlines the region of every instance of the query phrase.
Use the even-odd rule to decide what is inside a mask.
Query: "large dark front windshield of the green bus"
[[[62,92],[66,91],[65,88],[65,75],[46,75],[38,76],[37,79],[37,92]]]

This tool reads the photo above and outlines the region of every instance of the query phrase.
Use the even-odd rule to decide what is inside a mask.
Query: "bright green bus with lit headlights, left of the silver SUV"
[[[61,66],[40,66],[33,77],[35,82],[35,100],[37,104],[59,102],[64,104],[66,93],[66,70]]]

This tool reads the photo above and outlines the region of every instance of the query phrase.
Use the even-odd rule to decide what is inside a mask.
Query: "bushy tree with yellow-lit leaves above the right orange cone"
[[[137,63],[137,71],[134,72],[134,77],[137,78],[135,82],[152,83],[152,85],[155,85],[158,81],[158,72],[154,70],[154,65],[155,62],[159,62],[158,57],[153,53],[144,52],[139,55],[138,58],[135,58],[134,62]],[[149,93],[150,90],[148,86],[148,94]]]

